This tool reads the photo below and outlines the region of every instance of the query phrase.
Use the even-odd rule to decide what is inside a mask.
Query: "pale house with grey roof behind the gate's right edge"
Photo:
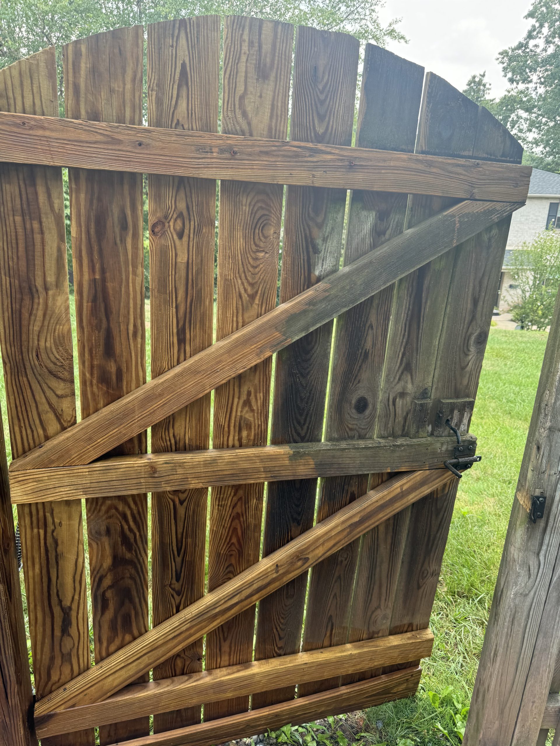
[[[511,254],[524,242],[531,242],[545,228],[560,229],[560,174],[533,169],[527,204],[511,216],[508,243],[505,248],[497,307],[508,310],[511,304]]]

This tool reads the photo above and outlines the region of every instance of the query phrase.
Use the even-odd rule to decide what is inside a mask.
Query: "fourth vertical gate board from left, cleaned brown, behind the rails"
[[[287,105],[293,27],[230,16],[225,20],[222,131],[281,139]],[[278,184],[220,182],[217,339],[276,305],[283,189]],[[213,442],[218,448],[266,445],[272,360],[216,389]],[[208,590],[257,562],[264,483],[212,489]],[[207,637],[205,667],[252,659],[255,608]],[[249,695],[206,703],[205,721],[249,709]]]

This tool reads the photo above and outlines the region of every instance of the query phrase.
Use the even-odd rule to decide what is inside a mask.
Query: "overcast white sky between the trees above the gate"
[[[531,0],[385,0],[380,15],[383,22],[402,18],[408,44],[390,42],[391,51],[459,90],[470,75],[486,70],[492,94],[501,95],[507,81],[496,57],[523,37],[530,6]]]

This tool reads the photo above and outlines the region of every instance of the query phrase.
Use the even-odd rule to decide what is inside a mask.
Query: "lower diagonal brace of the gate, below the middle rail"
[[[223,586],[38,700],[35,715],[41,717],[72,705],[104,700],[391,515],[444,486],[449,479],[455,477],[447,469],[411,471],[370,490]]]

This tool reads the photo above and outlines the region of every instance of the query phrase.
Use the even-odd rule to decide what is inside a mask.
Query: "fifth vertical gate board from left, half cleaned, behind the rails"
[[[358,40],[348,34],[298,28],[290,140],[351,144],[358,54]],[[281,303],[336,272],[345,210],[344,189],[288,186]],[[331,336],[329,322],[276,357],[271,442],[321,440]],[[316,479],[269,484],[264,555],[313,525],[316,492]],[[307,574],[302,574],[261,601],[256,659],[299,651],[306,587]],[[252,708],[293,699],[294,694],[295,686],[255,689]]]

